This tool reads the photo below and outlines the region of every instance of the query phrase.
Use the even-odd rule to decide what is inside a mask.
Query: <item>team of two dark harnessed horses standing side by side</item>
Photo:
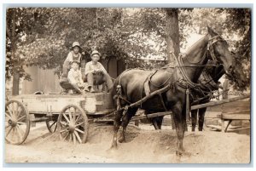
[[[113,104],[118,109],[113,124],[113,148],[118,145],[119,127],[122,126],[123,128],[119,137],[121,143],[126,139],[126,128],[131,121],[131,117],[135,116],[138,108],[141,108],[146,115],[160,111],[172,111],[177,133],[176,154],[178,156],[183,154],[185,151],[183,137],[187,128],[187,107],[191,106],[192,103],[208,102],[212,90],[219,88],[218,79],[224,73],[230,76],[242,74],[241,70],[236,68],[236,60],[229,51],[228,43],[224,38],[210,27],[207,27],[207,31],[207,35],[198,40],[185,54],[177,58],[177,66],[167,65],[154,71],[154,73],[141,69],[131,69],[124,71],[117,77],[111,90],[113,97],[117,97],[113,99]],[[206,72],[204,70],[206,67],[211,82],[203,83],[205,74],[202,72]],[[245,80],[243,79],[240,79],[238,84],[244,84]],[[145,83],[148,83],[148,88],[145,88]],[[146,97],[148,93],[166,87],[168,88],[165,92],[154,95],[152,98],[143,101],[139,106],[129,106]],[[188,90],[189,95],[186,94]],[[206,108],[199,110],[200,131],[202,130],[205,112]],[[196,116],[197,110],[191,111],[192,130],[195,130]],[[154,128],[160,128],[162,119],[163,117],[152,119]]]

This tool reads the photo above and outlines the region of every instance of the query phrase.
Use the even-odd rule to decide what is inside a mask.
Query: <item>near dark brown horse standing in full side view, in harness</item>
[[[206,55],[207,52],[210,52],[211,55]],[[182,59],[179,58],[179,65],[182,63],[182,67],[162,68],[150,77],[149,89],[151,92],[168,86],[166,92],[160,94],[162,99],[160,95],[155,95],[141,105],[127,109],[124,108],[125,105],[137,102],[146,96],[143,86],[151,72],[132,69],[121,73],[115,80],[112,90],[113,97],[119,97],[114,98],[114,104],[117,104],[119,110],[114,118],[112,146],[117,147],[117,133],[120,125],[123,127],[123,133],[119,142],[125,141],[126,127],[138,107],[145,110],[147,114],[168,110],[173,113],[177,132],[177,154],[181,155],[184,151],[183,135],[186,128],[186,106],[190,105],[192,101],[190,98],[189,104],[186,105],[186,90],[195,91],[197,89],[196,83],[207,64],[207,57],[223,64],[227,73],[230,73],[235,66],[228,44],[209,27],[208,34],[196,42]]]

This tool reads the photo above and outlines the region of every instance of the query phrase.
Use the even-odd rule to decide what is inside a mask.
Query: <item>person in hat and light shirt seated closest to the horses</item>
[[[93,85],[96,85],[98,81],[98,76],[102,76],[102,82],[107,84],[108,90],[113,87],[113,82],[108,72],[105,70],[104,66],[98,61],[100,60],[101,54],[94,50],[90,54],[91,61],[87,62],[85,65],[85,82],[87,81],[87,86],[85,86],[85,91],[90,91],[90,93],[95,92]]]

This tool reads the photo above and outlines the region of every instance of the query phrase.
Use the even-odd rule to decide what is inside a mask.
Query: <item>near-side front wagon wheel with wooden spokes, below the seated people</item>
[[[88,118],[78,105],[67,105],[58,117],[58,131],[61,140],[73,141],[73,144],[85,143],[88,133]]]

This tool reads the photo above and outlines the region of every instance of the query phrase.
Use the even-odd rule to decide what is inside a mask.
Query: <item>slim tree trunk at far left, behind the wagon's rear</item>
[[[10,9],[11,10],[11,9]],[[12,56],[11,60],[14,63],[14,69],[13,69],[13,95],[19,94],[19,85],[20,85],[20,72],[19,72],[19,61],[16,59],[15,52],[16,52],[16,34],[15,34],[15,9],[12,9],[12,27],[11,27],[11,51]]]

